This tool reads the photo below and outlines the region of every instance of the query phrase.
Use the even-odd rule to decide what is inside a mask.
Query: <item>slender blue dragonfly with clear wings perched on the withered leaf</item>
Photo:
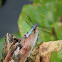
[[[30,32],[26,35],[25,39],[32,33],[32,31],[36,28],[36,26],[39,27],[39,30],[43,31],[43,32],[46,32],[46,33],[49,33],[49,34],[52,34],[51,30],[52,30],[52,27],[44,27],[44,26],[40,26],[38,22],[36,22],[36,24],[34,24],[31,20],[31,18],[28,16],[28,19],[29,19],[29,22],[26,21],[26,23],[32,27],[32,29],[30,30]]]

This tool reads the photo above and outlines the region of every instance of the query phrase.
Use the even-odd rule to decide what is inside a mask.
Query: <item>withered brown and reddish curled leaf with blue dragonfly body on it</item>
[[[35,48],[38,37],[38,23],[21,39],[7,33],[0,62],[25,62]]]

